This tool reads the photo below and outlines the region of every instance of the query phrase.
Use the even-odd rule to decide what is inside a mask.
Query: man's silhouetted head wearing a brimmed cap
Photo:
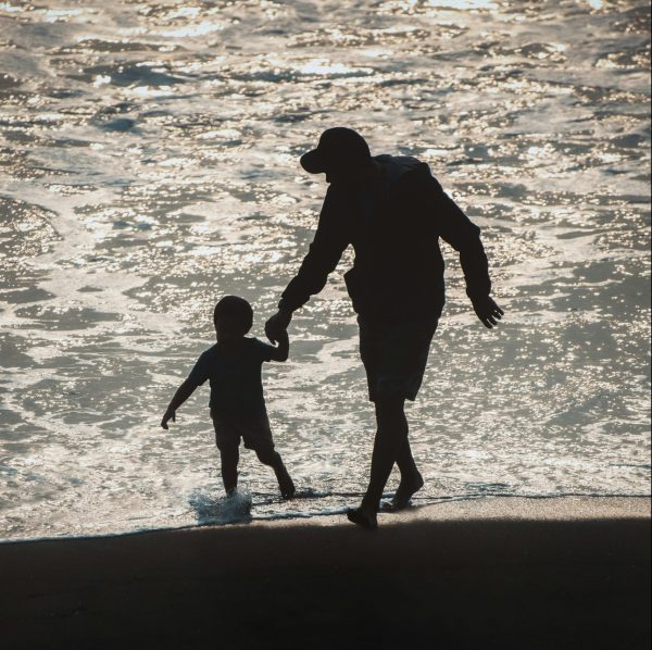
[[[326,180],[354,178],[366,171],[373,159],[365,139],[351,128],[328,128],[316,149],[301,157],[301,166],[309,174],[326,174]]]

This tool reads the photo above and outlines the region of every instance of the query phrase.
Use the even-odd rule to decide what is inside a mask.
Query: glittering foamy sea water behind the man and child
[[[447,248],[415,502],[649,493],[649,21],[635,0],[0,1],[0,538],[359,501],[350,251],[264,370],[301,498],[247,452],[225,507],[206,387],[159,427],[216,299],[249,299],[263,338],[326,189],[298,157],[335,125],[430,164],[506,311],[484,329]]]

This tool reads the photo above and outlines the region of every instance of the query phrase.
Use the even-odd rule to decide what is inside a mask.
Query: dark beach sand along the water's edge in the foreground
[[[482,499],[0,545],[1,646],[650,646],[650,499]]]

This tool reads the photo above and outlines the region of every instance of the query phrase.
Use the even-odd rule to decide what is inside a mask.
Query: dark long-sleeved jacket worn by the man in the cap
[[[319,292],[344,249],[355,251],[344,274],[353,309],[365,317],[435,314],[444,301],[439,238],[460,252],[469,297],[491,290],[480,229],[444,193],[426,163],[378,155],[380,182],[330,184],[310,251],[281,295],[294,311]]]

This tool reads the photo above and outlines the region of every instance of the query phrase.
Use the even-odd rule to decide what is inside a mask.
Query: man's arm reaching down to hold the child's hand
[[[310,250],[303,258],[299,272],[281,293],[278,312],[265,324],[265,334],[272,342],[280,340],[281,334],[290,324],[292,312],[324,288],[328,274],[335,270],[348,245],[342,212],[333,188],[329,188]]]

